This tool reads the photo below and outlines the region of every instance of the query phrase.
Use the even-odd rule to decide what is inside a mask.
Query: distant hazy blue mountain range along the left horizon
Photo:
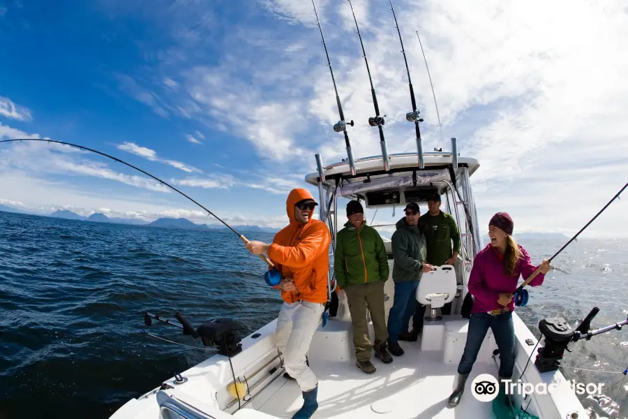
[[[8,207],[6,205],[0,205],[0,211],[4,212],[17,212],[25,214],[23,211],[17,210],[13,207]],[[38,214],[35,214],[38,215]],[[133,226],[147,226],[147,227],[160,227],[160,228],[182,228],[186,230],[226,230],[227,227],[223,226],[223,224],[196,224],[192,221],[184,218],[160,218],[155,221],[149,222],[138,219],[125,219],[125,218],[117,218],[117,217],[109,217],[103,213],[96,212],[91,214],[90,216],[82,216],[76,214],[75,212],[71,212],[69,210],[57,210],[50,215],[47,215],[53,218],[67,219],[67,220],[78,220],[78,221],[91,221],[94,223],[112,223],[112,224],[130,224]],[[235,230],[239,232],[247,231],[251,232],[260,232],[260,233],[276,233],[278,228],[269,228],[269,227],[260,227],[252,224],[240,224],[237,226],[232,226]]]

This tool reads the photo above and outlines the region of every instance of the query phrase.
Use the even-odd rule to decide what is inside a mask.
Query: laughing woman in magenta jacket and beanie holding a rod
[[[493,330],[500,351],[500,382],[512,376],[514,368],[515,335],[512,323],[514,292],[521,275],[528,279],[537,267],[532,265],[528,251],[512,238],[514,223],[505,212],[498,212],[488,223],[488,237],[484,249],[475,257],[469,277],[469,292],[474,297],[469,319],[467,343],[458,365],[458,384],[449,397],[449,406],[457,406],[465,390],[465,382],[477,358],[488,328]],[[539,266],[540,274],[530,286],[543,284],[550,270],[547,260]]]

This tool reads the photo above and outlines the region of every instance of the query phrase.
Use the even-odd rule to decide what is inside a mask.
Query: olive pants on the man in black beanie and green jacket
[[[353,346],[357,360],[371,359],[371,350],[388,339],[386,317],[384,316],[384,281],[369,282],[368,284],[351,284],[345,288],[351,323],[353,326]],[[375,329],[375,344],[371,344],[368,337],[366,323],[366,309],[371,311],[371,320]]]

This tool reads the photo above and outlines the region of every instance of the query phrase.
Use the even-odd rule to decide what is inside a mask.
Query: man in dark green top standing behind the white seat
[[[454,265],[460,252],[460,233],[456,220],[451,214],[440,210],[440,195],[434,193],[428,198],[428,212],[419,217],[419,230],[425,235],[427,263],[433,266]],[[453,247],[451,243],[453,242]],[[444,304],[442,314],[451,314],[451,304]],[[399,340],[415,341],[423,330],[425,307],[417,304],[412,317],[412,331],[402,333]]]

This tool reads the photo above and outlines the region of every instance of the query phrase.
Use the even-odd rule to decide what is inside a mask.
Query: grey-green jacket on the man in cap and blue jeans
[[[397,230],[391,237],[395,259],[393,281],[419,281],[426,261],[425,236],[418,226],[408,226],[405,217],[397,221],[395,226]]]

